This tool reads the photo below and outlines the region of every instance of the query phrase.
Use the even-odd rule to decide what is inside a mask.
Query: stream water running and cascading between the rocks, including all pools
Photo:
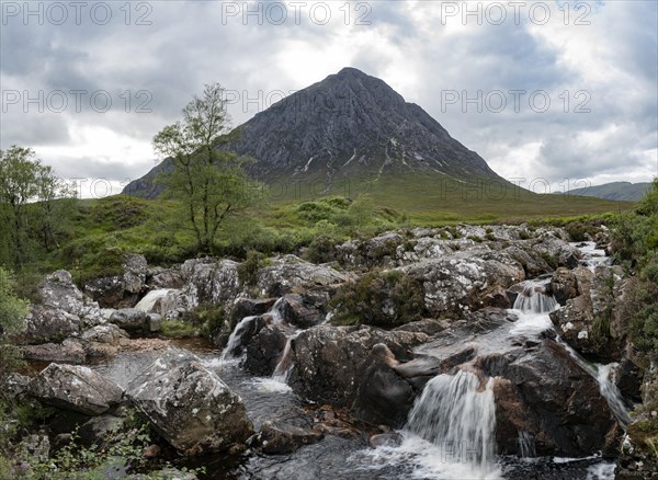
[[[590,243],[579,243],[583,264],[593,268],[605,262],[601,251]],[[499,351],[511,345],[519,336],[533,338],[552,329],[548,313],[559,308],[554,298],[544,295],[547,279],[527,281],[519,295],[514,309],[514,323],[470,339],[479,352]],[[273,312],[275,315],[275,307]],[[265,420],[284,420],[303,427],[313,425],[313,405],[299,399],[286,385],[291,370],[290,355],[284,353],[275,373],[269,378],[248,375],[234,357],[230,347],[239,343],[240,322],[229,340],[227,353],[208,346],[202,340],[172,341],[196,354],[208,368],[243,400],[247,413],[258,430]],[[291,332],[290,341],[298,332]],[[558,339],[559,341],[559,339]],[[602,396],[612,411],[626,424],[629,420],[620,392],[610,380],[614,365],[597,365],[585,361],[560,341],[560,344],[600,386]],[[419,353],[431,354],[439,345],[423,344]],[[445,347],[445,345],[442,345]],[[463,344],[460,345],[463,347]],[[445,350],[442,351],[445,355]],[[122,387],[158,356],[158,351],[118,355],[92,368],[114,379]],[[431,379],[417,398],[406,425],[398,431],[399,445],[385,444],[377,448],[367,446],[367,437],[344,438],[326,435],[316,444],[302,447],[288,455],[260,455],[213,457],[186,460],[185,466],[203,465],[207,479],[613,479],[615,465],[598,456],[586,458],[535,457],[533,439],[519,432],[519,444],[524,457],[496,456],[496,413],[492,379],[480,379],[470,372],[439,375]]]

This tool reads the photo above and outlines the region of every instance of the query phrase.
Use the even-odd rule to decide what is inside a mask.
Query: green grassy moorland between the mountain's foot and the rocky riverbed
[[[273,199],[263,195],[243,216],[225,222],[214,253],[241,259],[251,250],[265,254],[298,252],[319,239],[343,241],[412,226],[564,224],[614,215],[633,206],[525,191],[503,195],[486,187],[458,190],[445,184],[440,188],[435,182],[418,179],[366,186],[342,192],[355,201],[345,196]],[[41,274],[67,268],[81,285],[89,278],[117,272],[126,252],[141,253],[150,264],[182,262],[195,252],[192,232],[180,220],[180,208],[174,201],[125,195],[80,201],[68,238],[55,251],[36,252],[19,273],[19,279],[29,288]]]

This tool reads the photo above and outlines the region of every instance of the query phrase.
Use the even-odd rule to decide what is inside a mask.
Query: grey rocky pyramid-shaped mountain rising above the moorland
[[[354,68],[295,92],[238,128],[239,138],[224,148],[254,158],[250,174],[266,184],[315,182],[341,191],[338,185],[353,179],[372,185],[422,176],[511,186],[420,106]],[[171,160],[163,161],[124,193],[157,196],[155,176],[171,169]]]

